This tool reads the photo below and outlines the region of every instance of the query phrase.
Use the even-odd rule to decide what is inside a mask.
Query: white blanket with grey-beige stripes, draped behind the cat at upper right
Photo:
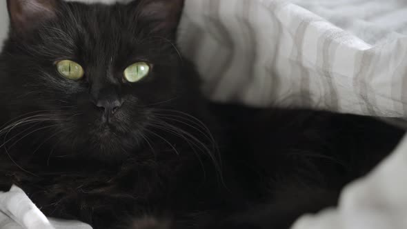
[[[187,1],[181,48],[208,96],[406,117],[407,2],[296,2],[320,16],[289,1]]]

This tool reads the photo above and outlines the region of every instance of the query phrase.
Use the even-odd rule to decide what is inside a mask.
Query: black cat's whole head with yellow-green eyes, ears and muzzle
[[[137,148],[158,108],[185,110],[198,94],[174,45],[181,0],[9,0],[8,8],[1,103],[8,119],[45,120],[32,135],[57,136],[50,145],[116,157]]]

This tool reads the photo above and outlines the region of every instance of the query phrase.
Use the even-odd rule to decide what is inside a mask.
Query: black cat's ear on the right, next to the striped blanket
[[[153,32],[175,36],[183,10],[184,0],[139,0],[138,19],[150,23]]]

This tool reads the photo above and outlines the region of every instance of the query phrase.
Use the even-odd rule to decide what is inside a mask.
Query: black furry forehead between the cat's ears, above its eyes
[[[41,30],[43,43],[59,54],[106,63],[134,50],[142,39],[137,15],[122,5],[72,3]]]

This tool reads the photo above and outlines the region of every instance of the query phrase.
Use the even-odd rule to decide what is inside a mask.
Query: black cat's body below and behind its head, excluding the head
[[[30,165],[14,160],[35,176],[2,155],[1,170],[7,168],[7,179],[46,215],[95,228],[151,219],[160,222],[157,228],[288,228],[305,212],[334,206],[341,188],[373,168],[403,134],[366,117],[216,108],[233,124],[226,132],[233,147],[220,149],[223,179],[210,158],[195,155],[132,159],[110,168],[82,159],[48,161],[41,153]],[[150,146],[144,150],[153,153]]]

